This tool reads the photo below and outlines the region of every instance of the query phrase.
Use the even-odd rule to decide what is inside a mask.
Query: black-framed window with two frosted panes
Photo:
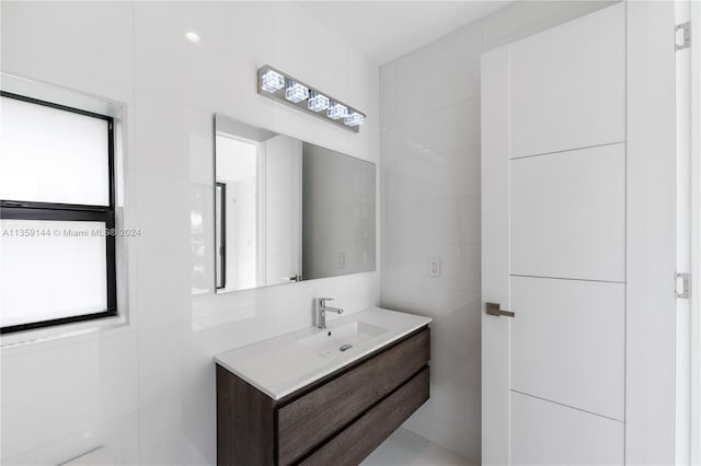
[[[0,100],[0,333],[117,315],[113,118]]]

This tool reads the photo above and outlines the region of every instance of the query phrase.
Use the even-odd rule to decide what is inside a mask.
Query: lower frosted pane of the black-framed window
[[[93,235],[104,229],[104,222],[0,220],[1,326],[105,311],[106,242]]]

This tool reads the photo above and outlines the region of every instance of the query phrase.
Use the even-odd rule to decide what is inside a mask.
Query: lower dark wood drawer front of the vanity
[[[304,466],[357,465],[428,399],[428,368],[301,462]]]

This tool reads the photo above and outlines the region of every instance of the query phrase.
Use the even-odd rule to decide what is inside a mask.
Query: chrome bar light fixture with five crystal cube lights
[[[258,68],[256,89],[264,97],[295,107],[348,131],[358,132],[366,118],[366,115],[355,107],[269,65]],[[347,109],[345,114],[343,108]]]

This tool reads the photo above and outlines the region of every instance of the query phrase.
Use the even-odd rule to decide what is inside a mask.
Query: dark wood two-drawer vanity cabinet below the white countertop
[[[428,399],[421,328],[274,400],[217,365],[219,465],[357,465]]]

